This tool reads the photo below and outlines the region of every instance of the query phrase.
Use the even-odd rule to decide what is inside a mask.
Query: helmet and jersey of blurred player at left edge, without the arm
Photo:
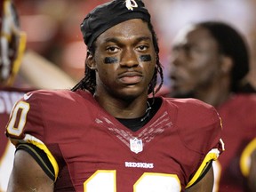
[[[20,31],[17,12],[9,0],[0,4],[0,191],[6,191],[15,148],[4,135],[12,106],[28,90],[11,88],[20,68],[26,36]]]

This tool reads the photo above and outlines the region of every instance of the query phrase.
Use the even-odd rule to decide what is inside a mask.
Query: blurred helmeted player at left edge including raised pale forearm
[[[18,14],[12,1],[0,1],[0,17],[0,191],[5,191],[15,150],[4,135],[12,106],[25,92],[34,88],[70,88],[75,82],[36,52],[25,52],[27,36],[20,30]],[[26,88],[14,86],[16,76],[20,73],[20,64],[22,76],[29,83]]]

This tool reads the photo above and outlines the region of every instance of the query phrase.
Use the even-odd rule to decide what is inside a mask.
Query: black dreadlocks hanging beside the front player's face
[[[143,20],[143,19],[141,19]],[[148,84],[148,94],[152,93],[153,97],[155,96],[156,92],[158,92],[162,86],[162,84],[164,83],[164,75],[163,75],[163,68],[162,65],[160,63],[160,59],[159,59],[159,46],[158,46],[158,39],[156,36],[156,32],[153,28],[153,25],[151,22],[148,22],[146,20],[143,20],[145,22],[148,23],[148,28],[152,34],[152,38],[153,38],[153,44],[154,44],[154,48],[155,48],[155,52],[156,52],[156,67],[155,67],[155,71],[154,71],[154,75],[151,79],[151,82]],[[95,43],[95,41],[94,41]],[[89,56],[89,52],[91,52],[92,54],[94,54],[95,52],[95,44],[92,44],[92,47],[87,47],[88,48],[88,52],[87,52],[87,56],[86,58]],[[160,76],[160,83],[157,85],[157,75],[159,74]],[[85,72],[84,72],[84,78],[78,83],[76,84],[71,91],[75,92],[76,90],[80,89],[80,90],[87,90],[89,92],[91,92],[92,94],[94,94],[95,90],[96,90],[96,72],[95,70],[92,70],[91,68],[89,68],[86,65],[86,60],[85,60]]]

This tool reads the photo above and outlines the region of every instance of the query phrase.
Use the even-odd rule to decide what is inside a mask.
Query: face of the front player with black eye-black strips
[[[156,53],[148,24],[127,20],[101,34],[92,66],[96,69],[96,94],[132,99],[148,95]]]

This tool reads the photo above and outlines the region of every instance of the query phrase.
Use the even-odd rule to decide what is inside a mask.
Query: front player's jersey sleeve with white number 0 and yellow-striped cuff
[[[55,180],[59,172],[59,166],[51,151],[44,144],[44,113],[42,111],[42,96],[46,92],[28,92],[24,94],[12,108],[12,113],[6,125],[6,136],[16,147],[22,143],[28,143],[40,148],[47,155],[54,168]]]

